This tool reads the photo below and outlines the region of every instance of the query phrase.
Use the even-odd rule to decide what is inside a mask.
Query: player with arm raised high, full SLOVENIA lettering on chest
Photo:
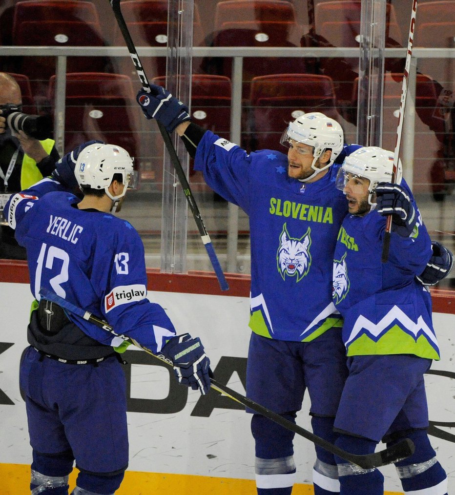
[[[137,100],[148,118],[176,131],[195,170],[250,217],[252,329],[247,396],[295,421],[311,398],[313,432],[333,443],[333,421],[347,376],[342,319],[331,297],[333,253],[348,205],[335,188],[344,146],[335,120],[313,112],[290,123],[281,144],[247,152],[190,122],[188,107],[152,85]],[[440,272],[435,274],[438,278]],[[248,412],[253,412],[249,410]],[[253,414],[259,495],[289,495],[296,477],[294,433]],[[315,495],[339,493],[335,458],[316,446]]]

